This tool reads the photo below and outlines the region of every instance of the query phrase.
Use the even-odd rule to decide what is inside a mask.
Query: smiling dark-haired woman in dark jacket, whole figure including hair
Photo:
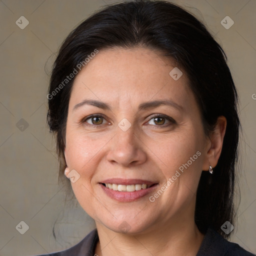
[[[233,228],[239,119],[225,55],[164,1],[100,10],[63,42],[48,123],[96,229],[50,255],[252,255]]]

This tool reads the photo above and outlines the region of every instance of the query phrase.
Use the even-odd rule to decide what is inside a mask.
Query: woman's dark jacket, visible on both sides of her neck
[[[69,249],[39,256],[94,256],[98,241],[97,229],[92,230],[79,243]],[[196,256],[255,256],[237,243],[229,242],[208,228]]]

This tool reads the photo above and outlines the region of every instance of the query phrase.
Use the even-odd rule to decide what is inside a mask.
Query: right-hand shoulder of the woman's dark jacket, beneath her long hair
[[[196,256],[255,256],[237,243],[229,242],[215,230],[208,228]]]

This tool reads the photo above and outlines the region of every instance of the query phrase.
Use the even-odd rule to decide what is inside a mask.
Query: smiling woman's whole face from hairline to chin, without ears
[[[98,225],[138,233],[193,221],[209,140],[174,67],[147,48],[107,49],[74,80],[65,158],[71,181],[79,177],[74,194]]]

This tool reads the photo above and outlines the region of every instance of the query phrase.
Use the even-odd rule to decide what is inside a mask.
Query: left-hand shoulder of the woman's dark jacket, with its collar
[[[78,242],[77,244],[75,244],[74,246],[68,249],[49,253],[49,254],[41,254],[37,256],[70,256],[70,255],[93,256],[97,241],[98,241],[97,229],[93,229],[80,242]]]

